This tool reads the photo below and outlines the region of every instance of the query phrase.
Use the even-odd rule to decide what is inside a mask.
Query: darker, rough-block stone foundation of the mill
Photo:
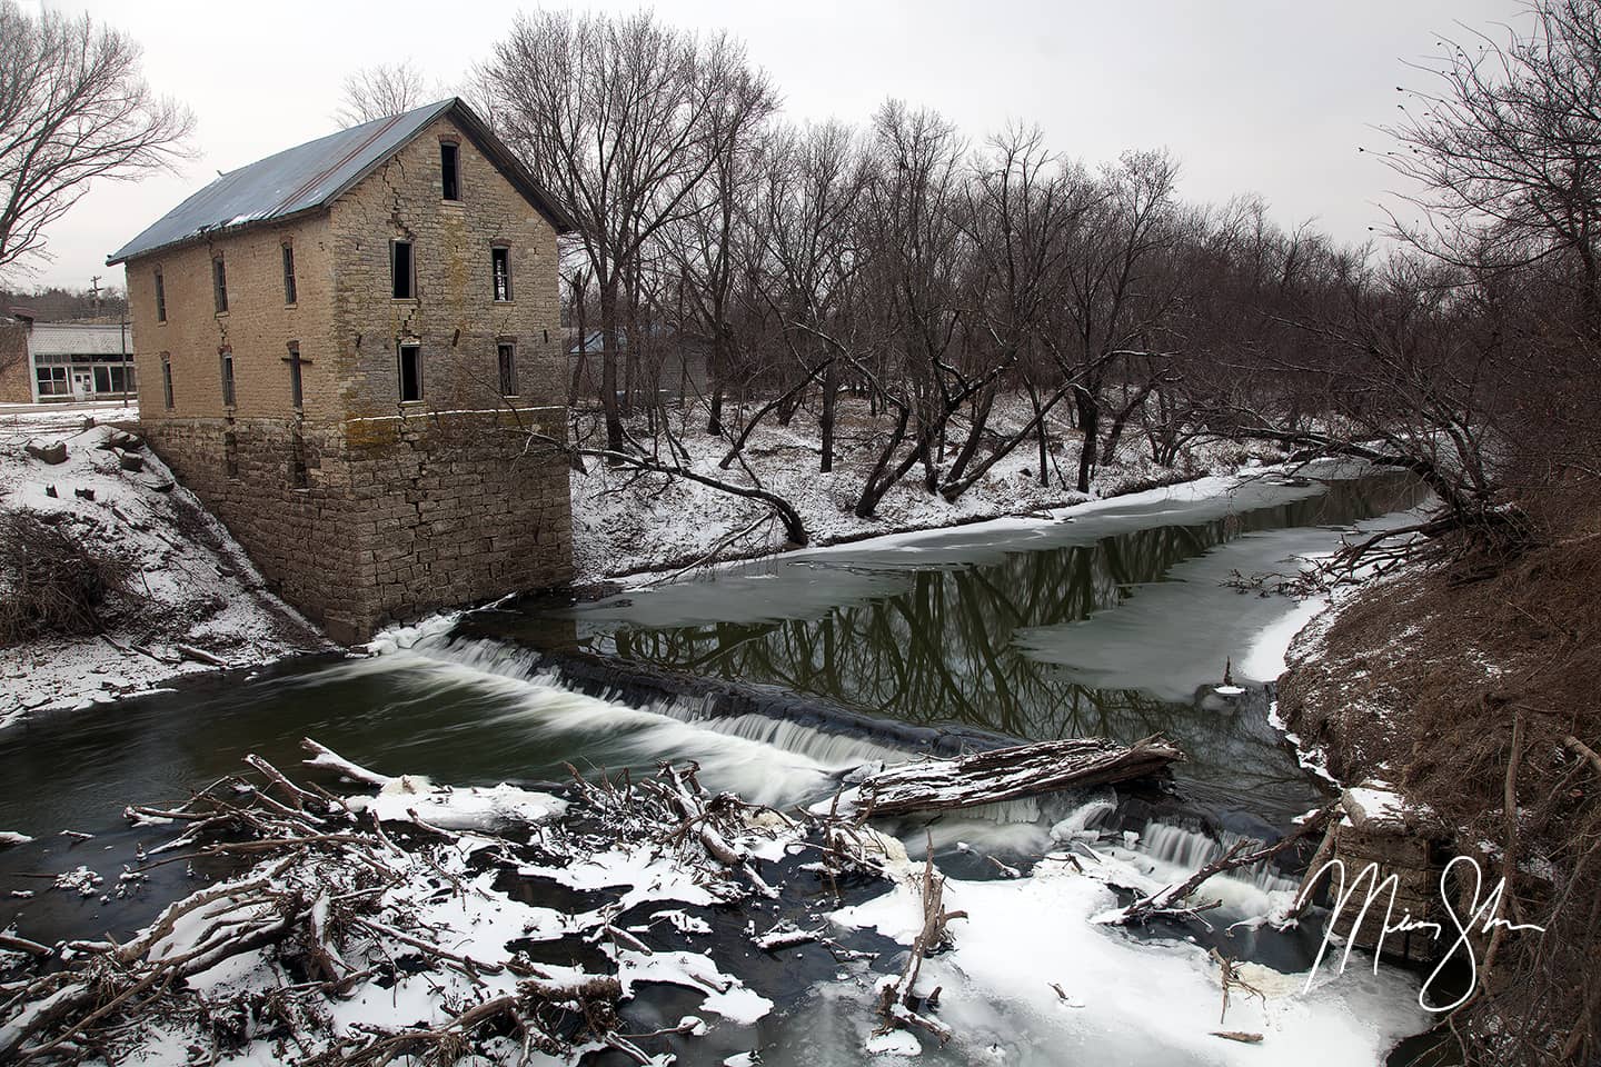
[[[567,464],[519,429],[565,440],[560,408],[144,426],[267,587],[344,643],[572,577]]]

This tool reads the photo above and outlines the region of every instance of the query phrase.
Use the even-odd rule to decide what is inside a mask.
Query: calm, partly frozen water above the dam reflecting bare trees
[[[1273,502],[1274,490],[1292,499]],[[1220,701],[1209,683],[1295,601],[1223,579],[1294,573],[1297,557],[1327,552],[1342,530],[1420,496],[1409,478],[1386,475],[1258,483],[1236,501],[1254,504],[1242,510],[1164,502],[1158,522],[1167,525],[1140,528],[1148,514],[1109,509],[837,561],[764,561],[570,614],[576,643],[594,651],[919,725],[1029,739],[1166,733],[1190,753],[1183,777],[1281,819],[1311,790],[1266,725],[1263,694]],[[964,552],[969,539],[981,549]],[[541,624],[500,616],[480,630],[525,625]]]

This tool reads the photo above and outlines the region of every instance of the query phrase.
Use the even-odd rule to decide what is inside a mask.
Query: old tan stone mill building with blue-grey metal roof
[[[556,237],[459,99],[223,174],[114,253],[139,418],[336,640],[572,576]]]

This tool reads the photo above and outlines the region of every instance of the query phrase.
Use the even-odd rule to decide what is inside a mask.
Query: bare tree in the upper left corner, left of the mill
[[[0,274],[45,254],[45,230],[98,178],[170,166],[194,126],[155,96],[131,37],[86,14],[26,14],[0,0]]]

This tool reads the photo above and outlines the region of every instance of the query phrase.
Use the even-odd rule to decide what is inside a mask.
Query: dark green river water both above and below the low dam
[[[1225,659],[1250,678],[1257,633],[1295,611],[1222,584],[1294,569],[1353,523],[1418,490],[1366,477],[1111,502],[1074,522],[1005,522],[784,557],[709,579],[551,611],[484,613],[378,657],[307,657],[0,731],[0,928],[118,936],[186,891],[181,865],[114,896],[136,843],[130,803],[181,800],[248,752],[290,766],[315,736],[391,773],[493,784],[696,758],[714,787],[768,801],[826,790],[876,755],[871,739],[759,720],[698,721],[692,704],[631,709],[536,670],[532,645],[575,645],[704,675],[784,686],[914,723],[1041,739],[1166,733],[1190,753],[1186,792],[1217,813],[1281,824],[1316,789],[1266,725],[1265,694],[1210,693]],[[1268,681],[1268,678],[1255,678]],[[72,829],[94,833],[72,843]],[[112,896],[42,893],[77,865]],[[35,875],[45,875],[35,877]],[[10,896],[40,891],[32,897]]]

